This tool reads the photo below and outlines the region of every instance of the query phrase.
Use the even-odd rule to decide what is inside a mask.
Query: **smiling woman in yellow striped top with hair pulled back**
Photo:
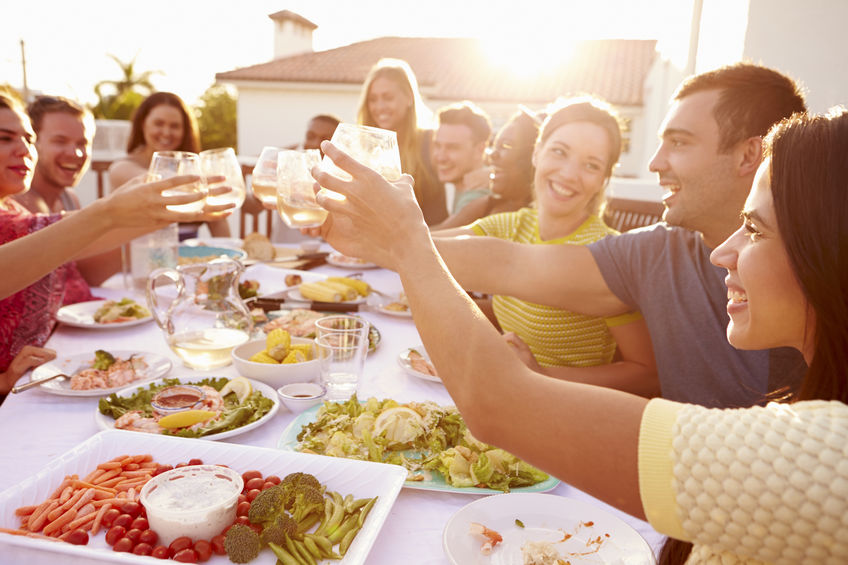
[[[592,97],[559,102],[542,124],[533,152],[536,207],[433,235],[586,245],[614,234],[600,209],[620,153],[620,121],[605,102]],[[603,319],[500,295],[493,297],[492,311],[505,339],[538,372],[644,396],[659,393],[650,337],[638,313]],[[608,365],[616,347],[620,360]],[[606,366],[587,370],[598,365]]]

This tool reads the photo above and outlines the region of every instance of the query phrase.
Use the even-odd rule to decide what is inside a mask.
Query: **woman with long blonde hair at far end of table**
[[[406,61],[380,59],[371,67],[362,86],[357,123],[397,133],[401,168],[415,179],[415,198],[428,225],[448,215],[444,186],[430,164],[431,118]]]

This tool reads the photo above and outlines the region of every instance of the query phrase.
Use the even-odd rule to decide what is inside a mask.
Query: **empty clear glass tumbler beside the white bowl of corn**
[[[368,338],[359,333],[333,332],[315,339],[326,400],[348,400],[356,392],[365,367]]]

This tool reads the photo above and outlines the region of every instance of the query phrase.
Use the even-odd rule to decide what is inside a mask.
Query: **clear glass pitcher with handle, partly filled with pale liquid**
[[[147,279],[147,303],[165,340],[193,369],[232,362],[233,348],[250,339],[253,318],[239,296],[244,267],[229,257],[157,269]]]

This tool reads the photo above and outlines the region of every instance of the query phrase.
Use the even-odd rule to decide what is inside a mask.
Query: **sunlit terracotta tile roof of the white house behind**
[[[382,57],[409,62],[428,98],[544,103],[576,92],[597,94],[618,105],[641,105],[642,85],[656,51],[655,40],[606,39],[576,44],[574,56],[526,79],[504,81],[474,39],[381,37],[344,47],[303,53],[233,71],[220,81],[361,84]]]

